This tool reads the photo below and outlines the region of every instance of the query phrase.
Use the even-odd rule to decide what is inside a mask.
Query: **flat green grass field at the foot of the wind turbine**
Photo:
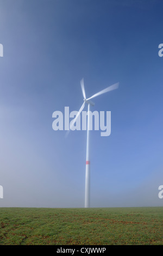
[[[163,207],[0,208],[0,245],[163,245]]]

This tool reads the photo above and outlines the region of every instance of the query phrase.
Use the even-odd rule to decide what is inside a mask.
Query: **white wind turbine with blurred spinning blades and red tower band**
[[[115,90],[118,88],[119,83],[115,83],[112,84],[112,86],[109,86],[103,90],[101,90],[100,92],[93,94],[91,97],[86,99],[86,95],[85,95],[85,89],[84,89],[84,79],[82,79],[80,81],[80,85],[82,87],[82,93],[83,93],[83,97],[84,97],[84,102],[82,107],[80,107],[78,114],[76,115],[76,118],[74,118],[71,123],[70,123],[70,130],[72,128],[72,126],[74,125],[74,123],[76,122],[77,118],[79,117],[80,113],[83,111],[83,108],[85,106],[85,104],[87,104],[87,141],[86,141],[86,170],[85,170],[85,208],[89,208],[90,207],[90,106],[95,106],[95,103],[93,103],[91,101],[91,99],[110,92],[111,90]],[[70,131],[69,130],[69,131]],[[69,132],[68,131],[68,132]]]

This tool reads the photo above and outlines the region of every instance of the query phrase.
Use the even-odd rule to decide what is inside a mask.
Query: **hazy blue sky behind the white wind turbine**
[[[160,206],[161,1],[0,1],[0,206],[83,207],[86,132],[52,129],[52,113],[111,111],[90,133],[91,206]],[[86,110],[86,109],[85,109]]]

